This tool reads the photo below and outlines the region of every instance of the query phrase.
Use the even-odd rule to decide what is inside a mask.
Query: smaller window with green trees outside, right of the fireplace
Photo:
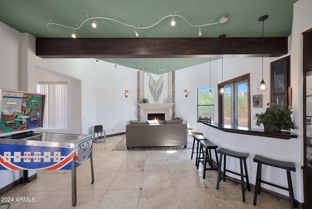
[[[214,102],[213,87],[197,89],[197,120],[199,117],[211,117],[211,121],[214,121]]]

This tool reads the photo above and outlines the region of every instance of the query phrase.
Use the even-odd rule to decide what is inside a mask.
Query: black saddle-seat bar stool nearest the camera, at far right
[[[291,171],[296,171],[295,164],[293,162],[273,160],[273,159],[266,158],[266,157],[263,157],[263,156],[260,156],[257,154],[254,155],[254,162],[258,163],[257,176],[256,176],[255,188],[254,188],[254,206],[256,205],[256,202],[257,202],[257,195],[260,194],[260,191],[263,191],[267,194],[273,195],[274,197],[281,198],[285,201],[290,202],[291,208],[294,209],[294,197],[293,197],[293,190],[292,190]],[[281,187],[279,185],[272,184],[272,183],[261,180],[262,164],[268,165],[268,166],[273,166],[273,167],[280,168],[280,169],[285,169],[287,172],[288,188]],[[268,184],[270,186],[289,191],[289,198],[285,198],[283,196],[277,195],[277,194],[272,193],[272,192],[267,191],[267,190],[262,190],[261,185],[260,185],[261,183]]]

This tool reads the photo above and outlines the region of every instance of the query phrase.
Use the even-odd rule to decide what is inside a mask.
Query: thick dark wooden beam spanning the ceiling
[[[36,55],[42,58],[280,57],[287,53],[287,37],[36,38]]]

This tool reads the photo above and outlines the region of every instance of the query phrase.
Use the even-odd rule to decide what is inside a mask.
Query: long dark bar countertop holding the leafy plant
[[[230,132],[230,133],[240,133],[240,134],[248,134],[248,135],[255,135],[255,136],[265,136],[265,137],[273,137],[273,138],[281,138],[281,139],[290,139],[290,138],[297,138],[296,134],[287,131],[281,131],[281,133],[269,133],[264,132],[263,129],[252,129],[252,128],[244,128],[244,127],[234,127],[234,126],[227,126],[224,124],[218,124],[216,122],[204,122],[204,121],[197,121],[198,123],[205,124],[212,128],[218,129],[223,132]]]

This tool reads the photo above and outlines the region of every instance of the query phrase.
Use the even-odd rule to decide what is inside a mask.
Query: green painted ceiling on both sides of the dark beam
[[[262,22],[258,21],[258,18],[269,15],[269,18],[264,22],[264,36],[288,37],[292,30],[293,3],[296,1],[0,0],[0,21],[22,33],[29,33],[35,37],[69,38],[73,32],[73,29],[70,28],[79,27],[85,19],[88,19],[87,16],[110,18],[135,27],[153,25],[163,17],[175,14],[183,16],[193,25],[209,24],[212,23],[213,19],[217,22],[221,16],[228,16],[229,21],[224,24],[201,27],[201,37],[217,38],[220,34],[226,34],[226,37],[261,37]],[[180,17],[175,17],[176,25],[173,27],[170,25],[171,18],[163,19],[149,29],[137,29],[138,38],[199,37],[198,27],[191,27]],[[92,28],[92,21],[93,19],[86,21],[75,31],[78,38],[136,38],[133,27],[113,20],[97,19],[98,27]],[[47,26],[49,22],[70,28],[59,25]],[[188,58],[185,61],[184,59],[174,61],[176,59],[168,58],[158,59],[155,63],[154,60],[116,59],[113,62],[129,63],[128,67],[134,66],[132,68],[137,68],[137,65],[144,65],[144,70],[150,69],[152,72],[155,70],[155,64],[157,64],[157,71],[160,66],[172,71],[209,61],[207,58]],[[176,63],[176,66],[173,63]],[[156,72],[156,74],[159,73]]]

